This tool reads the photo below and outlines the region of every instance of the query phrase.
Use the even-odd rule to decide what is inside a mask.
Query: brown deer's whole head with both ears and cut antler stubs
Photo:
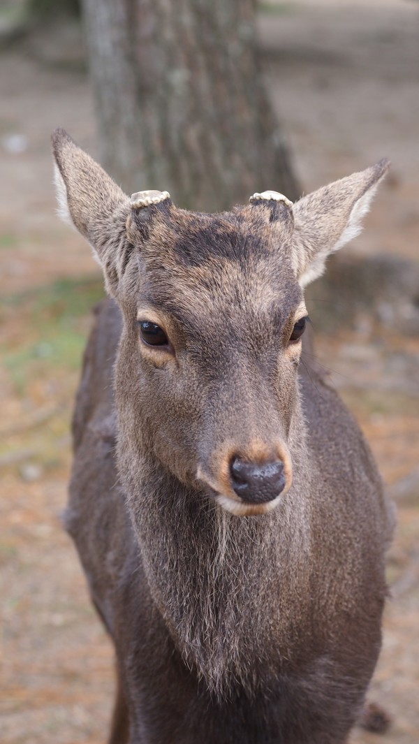
[[[194,214],[131,201],[61,130],[59,188],[124,314],[115,378],[121,450],[144,449],[231,513],[266,513],[292,484],[301,417],[303,287],[354,237],[385,164],[304,197],[275,192]]]

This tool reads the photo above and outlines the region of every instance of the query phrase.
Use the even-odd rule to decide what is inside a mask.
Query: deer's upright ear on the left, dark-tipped
[[[55,130],[52,146],[60,217],[89,241],[103,267],[106,289],[115,296],[130,247],[125,228],[129,198],[64,129]]]

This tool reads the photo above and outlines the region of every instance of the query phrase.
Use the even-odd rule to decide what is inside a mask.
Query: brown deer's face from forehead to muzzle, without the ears
[[[292,482],[288,437],[307,315],[290,260],[292,219],[269,222],[265,205],[153,211],[146,233],[129,217],[135,262],[121,298],[118,385],[126,389],[129,369],[136,382],[125,403],[181,481],[233,513],[266,512]]]

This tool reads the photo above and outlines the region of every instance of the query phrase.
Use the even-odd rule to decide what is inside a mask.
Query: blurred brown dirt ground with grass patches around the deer
[[[383,155],[393,162],[365,233],[345,250],[418,260],[419,3],[265,3],[260,39],[306,192]],[[60,512],[89,307],[102,289],[89,248],[54,214],[48,143],[60,124],[98,156],[80,34],[68,25],[8,46],[0,69],[0,741],[100,744],[112,649]],[[322,298],[315,288],[307,296],[316,325]],[[316,334],[398,507],[371,686],[393,723],[383,737],[356,730],[351,743],[418,744],[419,333],[361,317]]]

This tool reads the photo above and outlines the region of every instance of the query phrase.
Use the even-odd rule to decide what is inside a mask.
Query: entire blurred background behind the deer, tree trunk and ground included
[[[419,2],[3,0],[0,102],[1,744],[100,744],[112,710],[112,648],[60,524],[103,289],[55,214],[56,126],[127,193],[205,211],[391,158],[365,232],[307,298],[398,507],[370,695],[393,722],[351,744],[418,744]]]

